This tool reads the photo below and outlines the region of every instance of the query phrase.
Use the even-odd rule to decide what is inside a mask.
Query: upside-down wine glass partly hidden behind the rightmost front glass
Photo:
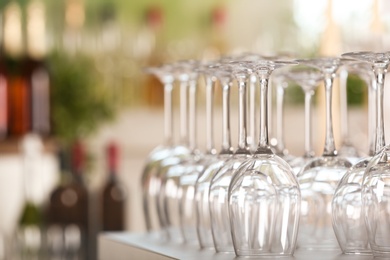
[[[347,54],[343,55],[347,56]],[[348,56],[347,56],[348,57]],[[358,65],[358,67],[357,67]],[[367,65],[367,66],[364,66]],[[373,106],[377,102],[371,96],[375,92],[375,87],[372,85],[373,74],[371,68],[368,64],[354,64],[351,68],[348,68],[349,71],[353,72],[358,70],[358,74],[362,75],[368,83],[368,129],[376,128],[372,124],[374,120],[371,119],[374,116],[371,111]],[[383,86],[382,86],[383,88]],[[382,90],[379,90],[383,92]],[[377,98],[382,98],[378,100],[380,104],[383,104],[383,95],[377,96]],[[341,179],[340,183],[337,186],[336,192],[332,200],[332,220],[333,220],[333,229],[339,242],[339,246],[344,254],[370,254],[370,246],[368,243],[368,235],[364,220],[364,214],[362,210],[362,184],[364,172],[367,168],[368,163],[370,162],[373,153],[375,150],[379,151],[384,145],[382,142],[378,142],[378,147],[375,150],[371,151],[371,144],[375,142],[376,131],[369,130],[372,132],[372,135],[369,135],[369,157],[366,157],[360,160],[358,163],[353,165],[344,177]],[[383,131],[381,131],[383,132]],[[382,139],[383,137],[379,137]]]

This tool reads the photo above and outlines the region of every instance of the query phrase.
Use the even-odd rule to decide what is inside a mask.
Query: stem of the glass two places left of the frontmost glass
[[[230,82],[222,83],[222,149],[220,154],[232,154],[230,135]]]

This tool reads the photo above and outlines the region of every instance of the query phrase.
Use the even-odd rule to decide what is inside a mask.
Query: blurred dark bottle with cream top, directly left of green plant
[[[46,66],[45,5],[41,0],[32,0],[26,13],[26,74],[31,91],[31,130],[46,136],[50,133],[50,75]]]

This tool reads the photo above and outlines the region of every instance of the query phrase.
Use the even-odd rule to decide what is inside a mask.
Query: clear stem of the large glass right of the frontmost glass
[[[332,87],[334,73],[325,74],[325,102],[326,102],[326,133],[324,156],[336,156],[337,151],[333,135],[333,119],[332,119]]]

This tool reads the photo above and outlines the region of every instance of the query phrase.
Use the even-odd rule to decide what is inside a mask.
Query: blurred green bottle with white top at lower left
[[[44,254],[43,216],[39,205],[42,150],[42,141],[38,136],[26,135],[22,139],[25,204],[16,234],[17,251],[22,259],[42,259]]]

